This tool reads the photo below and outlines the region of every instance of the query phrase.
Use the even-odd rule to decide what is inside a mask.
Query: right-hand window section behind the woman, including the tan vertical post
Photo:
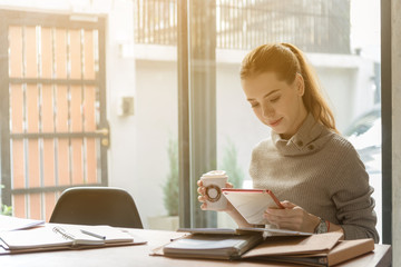
[[[363,16],[358,11],[362,8]],[[233,226],[223,214],[199,211],[195,181],[203,172],[218,168],[226,169],[233,180],[239,177],[242,181],[236,181],[237,186],[252,187],[247,172],[252,148],[270,136],[268,128],[252,113],[241,89],[238,69],[246,52],[272,41],[292,42],[305,51],[334,111],[338,128],[345,135],[358,123],[358,118],[372,110],[380,112],[378,10],[379,1],[374,0],[189,1],[190,93],[197,96],[190,99],[190,129],[195,131],[192,157],[202,159],[192,166],[192,226]],[[213,26],[215,30],[211,29]],[[206,127],[204,117],[215,119],[208,118]],[[380,115],[378,118],[372,123],[380,128]],[[202,141],[197,132],[202,132]],[[374,138],[380,144],[380,136]],[[364,141],[365,147],[369,145]],[[364,157],[368,150],[360,149]],[[380,147],[374,155],[368,152],[381,158]],[[381,231],[381,162],[376,160],[373,167],[368,158],[364,160],[371,186],[375,188],[373,197]]]

